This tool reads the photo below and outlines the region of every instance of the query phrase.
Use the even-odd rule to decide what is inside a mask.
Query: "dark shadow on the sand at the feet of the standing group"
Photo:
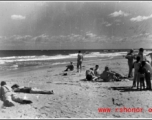
[[[122,87],[110,87],[109,89],[112,89],[112,90],[118,90],[120,92],[136,92],[136,91],[147,91],[146,89],[136,89],[136,88],[132,88],[130,86],[122,86]]]

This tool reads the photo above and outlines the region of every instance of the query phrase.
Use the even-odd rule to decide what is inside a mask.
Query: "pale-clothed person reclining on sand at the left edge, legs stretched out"
[[[5,81],[1,82],[0,87],[0,100],[4,102],[4,105],[7,107],[14,106],[14,102],[18,102],[20,104],[30,104],[32,101],[25,100],[23,98],[18,97],[12,89],[6,84]]]

